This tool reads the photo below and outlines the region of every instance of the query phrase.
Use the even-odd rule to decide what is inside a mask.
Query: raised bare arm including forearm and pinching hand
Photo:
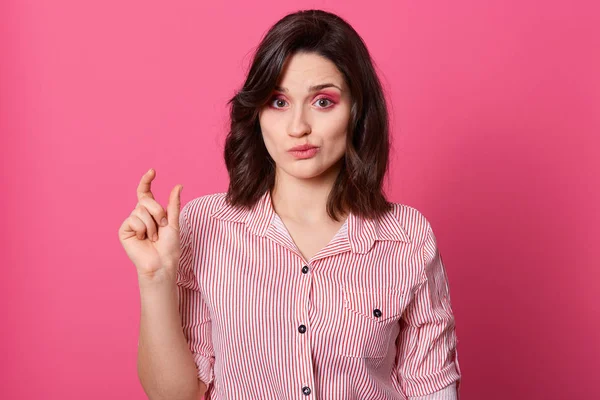
[[[154,177],[152,169],[144,174],[137,188],[138,204],[119,228],[140,288],[138,376],[150,400],[198,400],[207,386],[199,380],[178,309],[180,236],[187,239],[189,254],[188,231],[179,223],[183,186],[171,190],[165,211],[150,189]]]

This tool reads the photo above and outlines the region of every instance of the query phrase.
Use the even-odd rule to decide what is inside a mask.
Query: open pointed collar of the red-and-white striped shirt
[[[217,207],[211,217],[244,223],[251,233],[264,237],[273,223],[274,215],[271,193],[267,190],[250,209],[231,207],[224,202],[223,205]],[[410,236],[399,221],[397,207],[377,220],[362,218],[350,212],[347,224],[347,239],[354,253],[367,253],[376,240],[411,242]]]

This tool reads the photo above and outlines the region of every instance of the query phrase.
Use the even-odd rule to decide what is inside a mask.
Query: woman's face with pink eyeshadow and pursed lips
[[[277,90],[259,113],[263,140],[279,178],[311,179],[339,170],[352,105],[349,92],[328,59],[314,53],[288,59]],[[291,151],[305,144],[316,148]]]

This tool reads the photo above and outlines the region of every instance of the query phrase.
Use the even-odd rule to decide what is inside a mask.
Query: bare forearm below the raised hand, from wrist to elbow
[[[183,335],[175,281],[140,282],[138,375],[151,400],[198,400],[207,390]]]

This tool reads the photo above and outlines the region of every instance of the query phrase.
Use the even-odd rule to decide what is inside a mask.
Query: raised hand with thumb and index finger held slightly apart
[[[179,264],[179,209],[182,185],[171,190],[165,211],[154,199],[150,184],[154,169],[146,172],[137,188],[138,203],[119,228],[119,240],[137,268],[138,279],[174,281]]]

